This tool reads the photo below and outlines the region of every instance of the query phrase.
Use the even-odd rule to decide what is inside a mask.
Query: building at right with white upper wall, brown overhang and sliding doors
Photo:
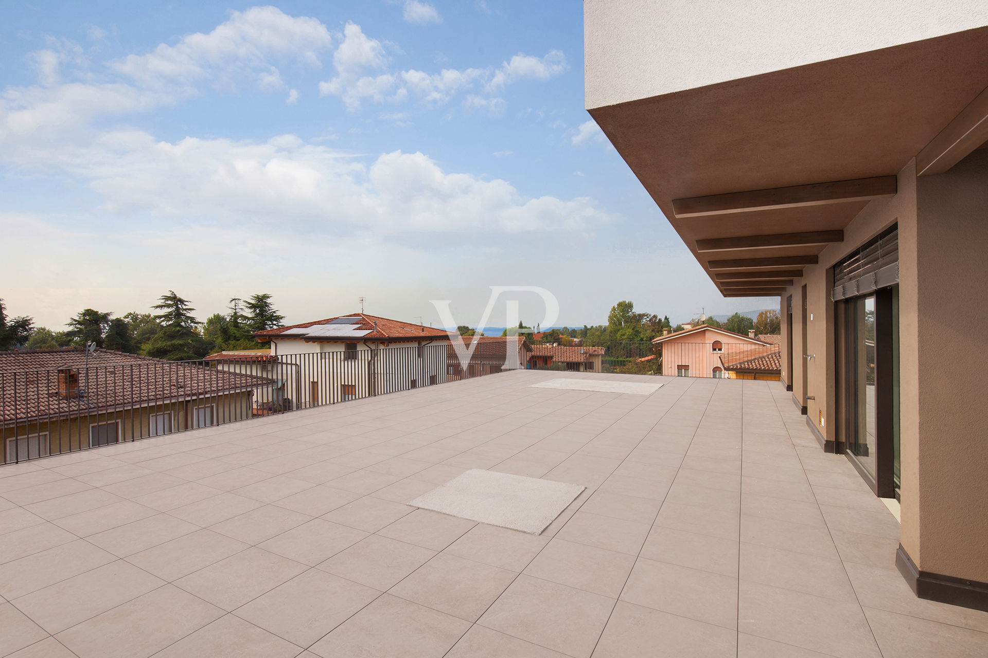
[[[780,298],[782,381],[901,499],[913,590],[988,610],[988,3],[584,12],[591,115],[724,296]]]

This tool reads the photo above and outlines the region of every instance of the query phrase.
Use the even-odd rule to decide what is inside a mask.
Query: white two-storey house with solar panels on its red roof
[[[447,377],[451,333],[353,313],[254,334],[271,341],[294,407],[356,400]]]

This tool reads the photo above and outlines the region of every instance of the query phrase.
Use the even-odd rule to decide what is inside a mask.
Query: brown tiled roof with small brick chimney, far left
[[[78,416],[153,402],[201,398],[220,393],[247,391],[274,382],[207,368],[194,363],[163,361],[148,356],[97,349],[89,355],[81,349],[41,349],[0,352],[0,424],[16,418],[50,415]],[[79,374],[85,397],[58,395],[58,370]]]

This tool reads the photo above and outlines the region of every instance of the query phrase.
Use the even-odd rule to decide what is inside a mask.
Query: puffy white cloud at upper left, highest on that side
[[[253,7],[231,12],[228,21],[207,35],[196,33],[175,45],[162,43],[147,54],[127,55],[111,68],[147,89],[191,87],[201,81],[231,87],[246,78],[270,90],[281,87],[272,59],[319,66],[319,53],[332,41],[316,19],[291,17],[275,7]]]

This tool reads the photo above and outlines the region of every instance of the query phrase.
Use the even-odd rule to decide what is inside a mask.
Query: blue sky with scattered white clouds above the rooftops
[[[687,321],[723,299],[583,103],[582,3],[11,4],[0,25],[0,297],[201,320],[476,326],[491,286]],[[503,292],[488,326],[545,296]],[[443,305],[439,305],[442,307]]]

